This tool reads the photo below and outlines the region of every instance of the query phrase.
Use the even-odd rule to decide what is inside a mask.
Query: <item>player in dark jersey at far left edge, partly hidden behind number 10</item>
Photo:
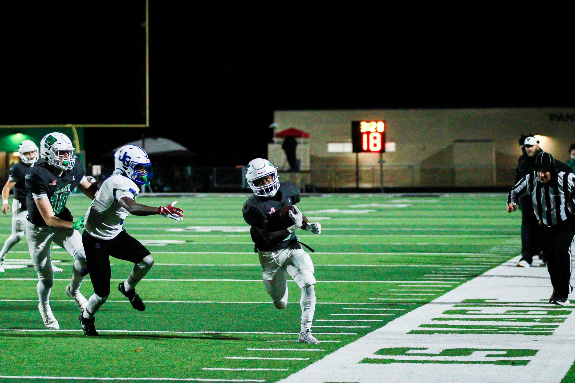
[[[4,214],[10,210],[8,196],[10,195],[11,188],[14,188],[14,199],[12,201],[12,234],[6,239],[2,251],[0,251],[0,273],[4,272],[3,264],[6,253],[9,252],[16,243],[22,240],[24,231],[26,230],[26,215],[28,215],[26,197],[28,196],[28,191],[26,191],[24,176],[31,167],[44,162],[38,154],[38,147],[30,140],[21,142],[18,146],[18,154],[20,154],[21,161],[10,167],[8,180],[2,189],[2,212]],[[61,271],[62,269],[52,265],[52,272],[56,273]]]

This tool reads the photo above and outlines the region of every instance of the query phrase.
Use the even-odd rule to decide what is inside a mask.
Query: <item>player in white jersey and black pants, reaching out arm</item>
[[[102,183],[98,196],[86,212],[86,230],[82,234],[94,294],[88,300],[79,320],[85,335],[97,336],[94,315],[110,295],[110,256],[133,262],[128,278],[118,290],[128,298],[132,307],[145,310],[144,302],[136,293],[136,285],[154,265],[154,258],[137,239],[122,228],[129,214],[159,214],[175,220],[183,219],[183,210],[168,206],[151,207],[136,203],[139,185],[149,185],[151,162],[140,146],[124,145],[114,154],[114,173]]]

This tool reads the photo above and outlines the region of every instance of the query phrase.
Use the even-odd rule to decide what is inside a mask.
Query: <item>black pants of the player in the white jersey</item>
[[[148,249],[125,230],[112,239],[94,238],[84,230],[82,243],[94,292],[103,298],[110,295],[110,256],[137,264],[150,255]]]

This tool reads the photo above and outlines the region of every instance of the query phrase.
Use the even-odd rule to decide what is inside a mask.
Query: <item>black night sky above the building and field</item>
[[[144,2],[0,6],[0,125],[143,123]],[[150,1],[150,127],[197,165],[266,156],[273,111],[575,106],[573,7]],[[69,121],[68,121],[69,120]],[[519,131],[519,130],[518,130]]]

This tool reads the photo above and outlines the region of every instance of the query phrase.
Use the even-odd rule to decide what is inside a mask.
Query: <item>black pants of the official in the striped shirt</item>
[[[571,243],[575,236],[575,222],[568,219],[555,226],[540,226],[553,291],[556,296],[566,298],[570,292]]]

